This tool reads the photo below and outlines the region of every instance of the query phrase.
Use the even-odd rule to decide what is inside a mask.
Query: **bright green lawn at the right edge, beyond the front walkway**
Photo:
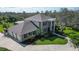
[[[77,45],[79,46],[79,31],[66,27],[64,33],[71,38],[74,47],[77,47]]]

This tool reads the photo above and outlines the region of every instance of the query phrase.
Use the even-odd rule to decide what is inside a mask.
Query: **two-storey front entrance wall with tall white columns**
[[[55,21],[46,21],[42,22],[41,30],[43,30],[44,33],[46,32],[55,32]]]

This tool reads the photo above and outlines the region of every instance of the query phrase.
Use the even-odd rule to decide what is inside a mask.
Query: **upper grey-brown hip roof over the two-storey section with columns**
[[[55,20],[55,18],[51,18],[50,16],[46,16],[44,14],[37,14],[32,17],[25,18],[25,21],[32,20],[32,21],[43,22],[43,21],[49,21],[49,19],[53,19],[53,21]]]

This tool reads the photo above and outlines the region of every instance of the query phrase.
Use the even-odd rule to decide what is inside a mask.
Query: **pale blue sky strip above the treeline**
[[[23,12],[23,11],[26,11],[26,12],[45,12],[46,10],[48,11],[59,11],[61,9],[61,7],[28,7],[28,8],[21,8],[21,7],[1,7],[0,8],[0,12]],[[79,8],[77,7],[68,7],[69,10],[78,10]]]

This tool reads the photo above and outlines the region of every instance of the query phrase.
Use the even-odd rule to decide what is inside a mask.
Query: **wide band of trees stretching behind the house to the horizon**
[[[68,10],[67,8],[61,8],[59,12],[54,10],[45,12],[37,11],[36,13],[27,13],[23,11],[22,13],[15,13],[15,12],[0,12],[0,24],[7,23],[7,22],[16,22],[20,20],[24,20],[24,18],[33,16],[35,14],[45,14],[51,17],[56,18],[56,25],[57,26],[71,26],[73,28],[79,29],[79,10]]]

